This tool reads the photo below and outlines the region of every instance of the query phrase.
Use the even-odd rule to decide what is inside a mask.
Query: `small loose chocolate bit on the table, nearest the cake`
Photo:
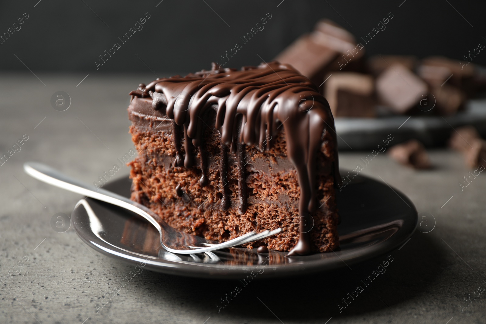
[[[429,155],[416,139],[395,145],[388,154],[400,164],[414,169],[430,169]]]

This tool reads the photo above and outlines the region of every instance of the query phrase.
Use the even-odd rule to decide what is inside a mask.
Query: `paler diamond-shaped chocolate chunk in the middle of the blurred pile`
[[[397,114],[404,114],[415,106],[427,90],[425,82],[401,64],[388,67],[376,79],[378,97]]]

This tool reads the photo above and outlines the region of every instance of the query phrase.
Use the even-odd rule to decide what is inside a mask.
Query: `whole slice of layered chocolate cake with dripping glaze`
[[[202,70],[130,92],[131,199],[179,231],[292,255],[338,247],[334,119],[289,65]]]

